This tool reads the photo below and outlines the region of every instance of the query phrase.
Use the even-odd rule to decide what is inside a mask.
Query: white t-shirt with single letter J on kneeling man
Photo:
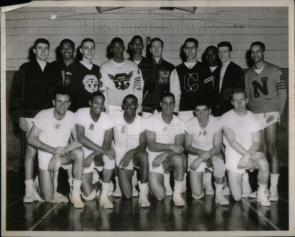
[[[145,120],[145,129],[156,133],[156,142],[162,144],[174,144],[175,136],[184,134],[184,122],[173,114],[170,124],[166,124],[162,118],[162,112],[153,114]]]

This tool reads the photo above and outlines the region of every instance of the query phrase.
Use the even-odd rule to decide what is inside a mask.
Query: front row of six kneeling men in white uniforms
[[[39,157],[39,176],[33,185],[34,200],[68,201],[56,192],[57,183],[54,182],[55,171],[63,166],[72,169],[68,172],[69,176],[73,175],[69,177],[69,197],[74,207],[84,206],[80,194],[84,200],[93,200],[100,194],[99,204],[112,208],[109,196],[114,189],[111,177],[116,165],[125,198],[132,197],[133,167],[139,169],[138,201],[142,207],[150,206],[148,192],[156,200],[165,198],[163,175],[171,171],[175,205],[185,205],[181,193],[185,190],[186,170],[189,171],[192,196],[201,198],[205,168],[213,172],[215,201],[220,205],[229,204],[222,195],[225,169],[235,200],[242,198],[245,169],[258,169],[257,201],[269,206],[265,194],[269,166],[265,155],[258,152],[260,123],[246,109],[248,98],[244,89],[232,90],[230,99],[234,109],[220,119],[210,115],[207,101],[197,101],[195,117],[184,123],[180,116],[173,114],[175,98],[172,93],[163,95],[162,112],[145,119],[136,114],[138,101],[134,95],[124,98],[123,111],[104,113],[104,95],[96,91],[89,98],[90,108],[80,108],[72,113],[68,111],[69,95],[57,92],[53,100],[55,108],[37,114],[28,138],[38,149]],[[225,164],[222,142],[226,146]],[[93,175],[94,169],[102,171],[101,178]]]

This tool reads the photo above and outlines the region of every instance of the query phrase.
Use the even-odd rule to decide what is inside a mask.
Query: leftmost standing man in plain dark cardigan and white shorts
[[[19,71],[22,73],[20,80],[23,88],[19,90],[23,98],[19,101],[19,126],[28,136],[32,128],[32,118],[43,109],[52,107],[52,99],[56,85],[63,81],[60,70],[57,66],[48,63],[50,44],[46,39],[37,39],[34,42],[33,52],[36,60],[22,64]],[[26,191],[24,202],[33,202],[32,185],[33,185],[33,163],[36,149],[27,145],[27,151],[24,158],[25,167],[25,184]]]

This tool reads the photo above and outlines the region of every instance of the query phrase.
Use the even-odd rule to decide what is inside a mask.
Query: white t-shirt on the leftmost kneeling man
[[[33,118],[35,126],[41,129],[39,140],[51,147],[66,147],[72,129],[75,126],[75,114],[71,111],[66,111],[65,117],[62,120],[57,120],[53,112],[54,108],[45,109]],[[42,153],[44,151],[39,152]]]

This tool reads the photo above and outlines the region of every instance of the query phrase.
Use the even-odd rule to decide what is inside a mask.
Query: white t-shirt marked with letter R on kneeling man
[[[90,116],[90,108],[79,108],[75,113],[75,124],[85,128],[85,136],[98,146],[104,142],[104,132],[114,127],[114,118],[101,112],[99,119],[94,122]],[[89,150],[84,147],[84,149]]]

